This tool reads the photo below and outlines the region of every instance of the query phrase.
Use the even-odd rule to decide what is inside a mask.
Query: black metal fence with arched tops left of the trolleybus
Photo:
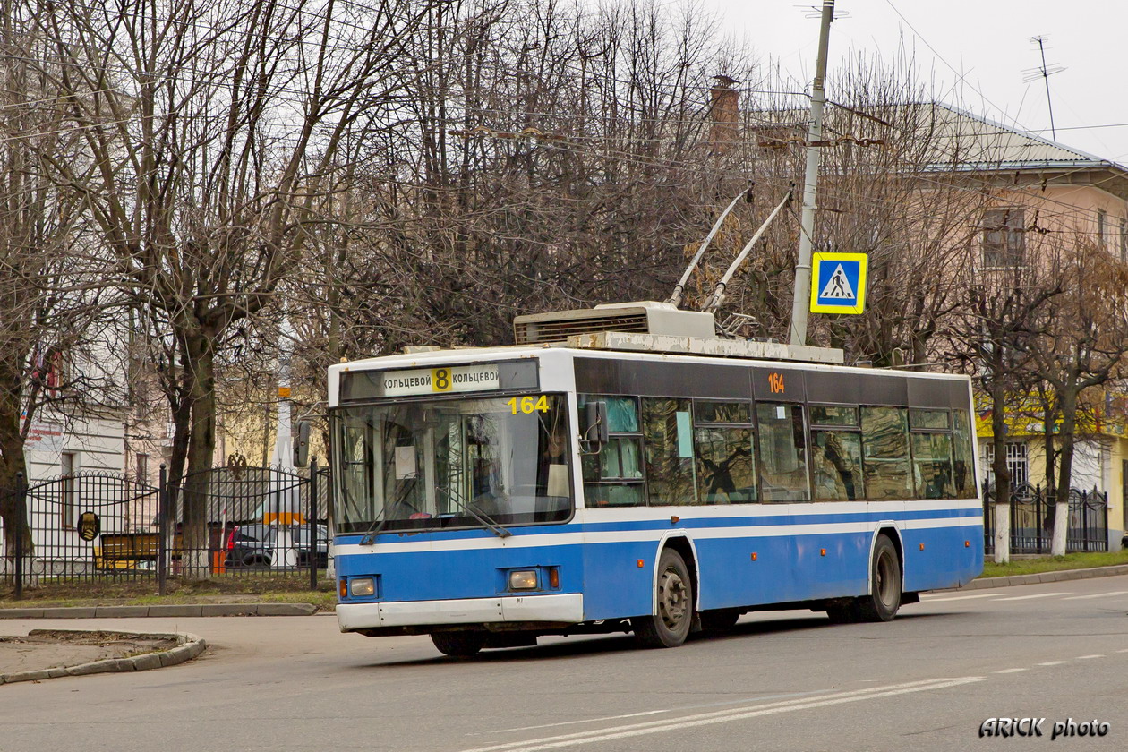
[[[301,576],[317,587],[328,564],[329,472],[217,467],[156,486],[116,472],[78,472],[35,484],[17,480],[9,502],[28,537],[10,537],[0,583],[25,585],[152,581],[169,577]],[[197,534],[185,534],[195,506]],[[17,511],[17,514],[19,512]],[[0,540],[7,540],[5,537]],[[196,545],[186,546],[195,540]]]

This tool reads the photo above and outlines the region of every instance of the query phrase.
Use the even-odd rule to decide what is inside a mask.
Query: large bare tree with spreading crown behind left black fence
[[[164,352],[187,479],[186,576],[206,576],[204,471],[232,326],[277,316],[346,130],[388,106],[429,0],[50,3],[44,70],[87,160],[49,159],[85,202],[116,278]],[[89,166],[86,167],[86,166]],[[273,311],[273,312],[272,312]]]

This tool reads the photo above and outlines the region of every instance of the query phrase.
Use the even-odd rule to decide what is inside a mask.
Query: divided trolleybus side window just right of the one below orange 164
[[[857,407],[811,405],[811,472],[817,502],[865,498]]]

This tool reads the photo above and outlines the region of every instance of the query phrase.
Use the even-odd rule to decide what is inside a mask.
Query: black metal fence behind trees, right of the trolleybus
[[[995,552],[995,488],[984,484],[984,548]],[[1041,486],[1022,484],[1011,489],[1011,552],[1049,554],[1054,537],[1055,501]],[[1069,489],[1069,527],[1066,551],[1109,550],[1109,495]]]

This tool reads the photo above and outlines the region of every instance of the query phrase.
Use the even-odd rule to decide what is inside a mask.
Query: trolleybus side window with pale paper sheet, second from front
[[[646,497],[651,506],[697,503],[689,400],[642,398]]]

